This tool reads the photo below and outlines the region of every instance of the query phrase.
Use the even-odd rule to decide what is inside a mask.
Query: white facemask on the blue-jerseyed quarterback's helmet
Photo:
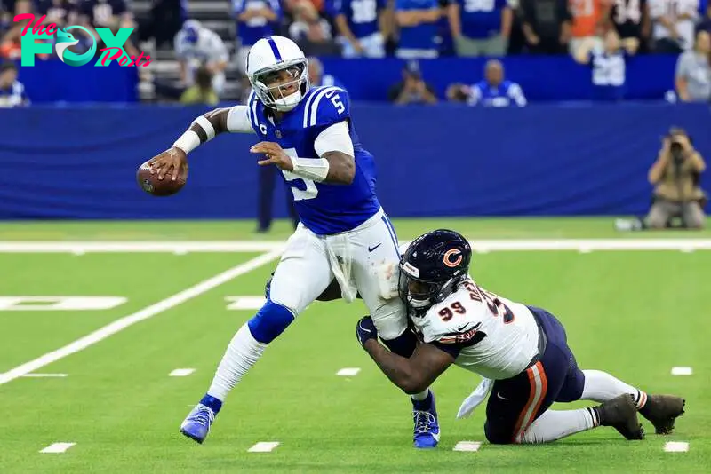
[[[285,82],[284,73],[289,75],[289,80]],[[308,62],[306,59],[293,59],[261,69],[250,76],[250,83],[262,104],[279,112],[288,112],[299,104],[308,91]],[[284,89],[288,91],[290,87],[294,91],[284,95]]]

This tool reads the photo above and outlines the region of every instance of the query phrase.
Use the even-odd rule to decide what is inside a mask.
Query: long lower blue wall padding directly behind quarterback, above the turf
[[[135,172],[203,107],[0,109],[0,218],[252,218],[255,135],[229,134],[190,155],[188,186],[143,193]],[[703,105],[354,105],[375,154],[380,201],[395,217],[643,213],[647,170],[669,126],[711,156]],[[285,217],[277,184],[276,216]]]

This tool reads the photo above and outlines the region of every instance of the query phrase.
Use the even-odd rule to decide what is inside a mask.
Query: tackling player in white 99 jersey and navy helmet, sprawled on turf
[[[422,343],[411,358],[380,345],[371,318],[358,322],[358,341],[395,385],[421,391],[452,364],[492,380],[484,432],[495,444],[545,443],[601,425],[642,439],[637,411],[657,433],[673,430],[683,399],[647,395],[605,372],[580,370],[560,321],[480,288],[468,275],[470,261],[469,243],[448,230],[426,233],[404,252],[400,294]],[[484,397],[485,391],[479,401]],[[548,409],[579,399],[603,403]],[[470,413],[476,404],[465,407],[465,400],[462,408]]]

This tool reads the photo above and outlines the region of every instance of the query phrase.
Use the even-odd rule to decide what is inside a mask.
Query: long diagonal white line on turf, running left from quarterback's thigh
[[[96,344],[108,336],[113,336],[119,331],[123,331],[125,328],[136,324],[142,320],[148,320],[156,314],[167,311],[179,304],[185,303],[189,299],[200,296],[203,293],[210,291],[212,288],[219,287],[221,284],[233,280],[244,273],[252,272],[255,268],[259,268],[261,265],[266,265],[272,260],[276,259],[281,255],[280,251],[272,251],[266,254],[262,254],[259,257],[254,257],[251,260],[244,262],[244,264],[236,265],[225,272],[219,273],[212,278],[203,280],[188,289],[184,289],[173,296],[169,296],[156,304],[151,304],[140,310],[139,312],[134,312],[128,316],[124,316],[119,320],[115,320],[103,328],[99,328],[96,331],[88,334],[80,339],[77,339],[73,343],[65,345],[56,351],[47,352],[43,356],[37,359],[30,360],[29,362],[22,364],[19,367],[15,367],[12,370],[0,374],[0,385],[8,383],[22,375],[34,372],[40,367],[47,366],[56,362],[57,360],[64,359],[70,354],[75,352],[83,351],[92,344]]]

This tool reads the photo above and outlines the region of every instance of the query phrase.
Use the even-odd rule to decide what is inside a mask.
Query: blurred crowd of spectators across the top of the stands
[[[140,68],[141,86],[153,100],[244,100],[250,91],[246,53],[271,35],[291,37],[312,57],[316,85],[339,85],[317,57],[403,59],[403,80],[388,93],[397,104],[450,100],[522,107],[525,91],[495,59],[522,54],[570,55],[589,65],[600,99],[619,99],[625,65],[635,55],[677,54],[675,99],[711,96],[707,0],[0,0],[0,5],[0,55],[7,59],[20,55],[24,23],[12,21],[20,13],[45,15],[44,23],[60,28],[135,28],[124,48],[129,54],[153,52],[154,66]],[[419,60],[454,56],[494,59],[481,82],[452,83],[446,97],[437,98]],[[13,85],[16,71],[5,67],[0,102],[28,104],[21,84]],[[227,74],[230,67],[234,80]]]

